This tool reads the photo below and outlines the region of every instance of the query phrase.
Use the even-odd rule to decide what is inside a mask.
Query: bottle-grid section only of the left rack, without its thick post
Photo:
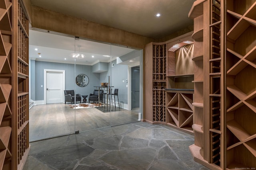
[[[18,1],[18,55],[15,59],[17,63],[17,163],[18,169],[22,169],[26,156],[28,156],[28,113],[29,113],[29,96],[28,96],[28,16],[22,1]]]

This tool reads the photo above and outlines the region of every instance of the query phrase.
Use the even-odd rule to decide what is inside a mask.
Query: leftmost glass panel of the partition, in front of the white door
[[[29,35],[29,139],[74,133],[74,37],[36,29]]]

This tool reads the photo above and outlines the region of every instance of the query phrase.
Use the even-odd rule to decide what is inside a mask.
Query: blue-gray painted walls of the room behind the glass
[[[114,61],[115,63],[116,61]],[[76,76],[78,74],[86,74],[89,78],[89,84],[85,87],[79,87],[75,83],[75,68],[74,64],[65,63],[51,63],[44,61],[35,61],[34,67],[31,64],[31,72],[35,74],[34,80],[31,77],[31,96],[35,96],[32,100],[44,100],[44,69],[52,70],[65,70],[65,85],[66,90],[75,90],[76,93],[81,95],[89,95],[95,89],[94,86],[100,86],[101,82],[108,82],[108,76],[110,76],[110,69],[112,69],[112,86],[119,90],[119,102],[128,104],[128,88],[126,88],[126,81],[128,79],[128,66],[116,65],[110,67],[108,63],[108,71],[103,73],[93,73],[92,66],[76,64]],[[33,70],[34,69],[34,70]],[[122,82],[124,80],[124,82]],[[34,86],[33,86],[34,84]],[[114,92],[114,89],[113,89]]]

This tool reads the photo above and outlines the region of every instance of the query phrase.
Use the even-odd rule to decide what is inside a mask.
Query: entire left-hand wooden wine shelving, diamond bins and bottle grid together
[[[28,144],[28,17],[0,0],[0,169],[22,169]]]

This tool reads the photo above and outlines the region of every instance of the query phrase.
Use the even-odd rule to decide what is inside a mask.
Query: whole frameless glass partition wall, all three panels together
[[[30,141],[140,120],[142,50],[33,29],[29,55]]]

